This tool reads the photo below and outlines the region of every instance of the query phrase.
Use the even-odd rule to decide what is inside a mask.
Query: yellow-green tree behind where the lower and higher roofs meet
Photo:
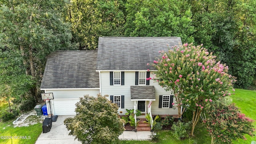
[[[122,36],[122,0],[72,0],[67,20],[80,50],[96,50],[99,36]]]

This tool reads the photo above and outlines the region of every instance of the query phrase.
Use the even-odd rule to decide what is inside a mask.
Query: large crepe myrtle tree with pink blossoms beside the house
[[[166,91],[173,90],[179,117],[185,110],[181,107],[192,110],[191,135],[194,135],[202,110],[212,101],[230,95],[235,78],[228,74],[228,66],[217,62],[216,56],[202,44],[183,44],[159,53],[161,57],[152,64],[157,69],[154,80]]]

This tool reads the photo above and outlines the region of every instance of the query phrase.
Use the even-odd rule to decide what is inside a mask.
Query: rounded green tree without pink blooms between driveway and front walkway
[[[82,144],[117,144],[124,131],[124,120],[118,116],[118,106],[100,95],[85,95],[76,103],[76,116],[66,118],[64,124],[69,135]]]

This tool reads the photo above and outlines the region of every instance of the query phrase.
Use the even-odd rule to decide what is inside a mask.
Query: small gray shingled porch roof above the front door
[[[156,99],[154,86],[131,86],[131,99]]]

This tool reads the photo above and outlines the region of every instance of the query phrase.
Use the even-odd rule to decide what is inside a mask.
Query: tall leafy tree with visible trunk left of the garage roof
[[[20,54],[23,61],[21,68],[24,68],[24,74],[32,77],[30,90],[37,100],[37,87],[46,56],[55,50],[70,47],[72,34],[69,24],[62,18],[66,2],[9,0],[1,3],[1,51],[14,50]]]

